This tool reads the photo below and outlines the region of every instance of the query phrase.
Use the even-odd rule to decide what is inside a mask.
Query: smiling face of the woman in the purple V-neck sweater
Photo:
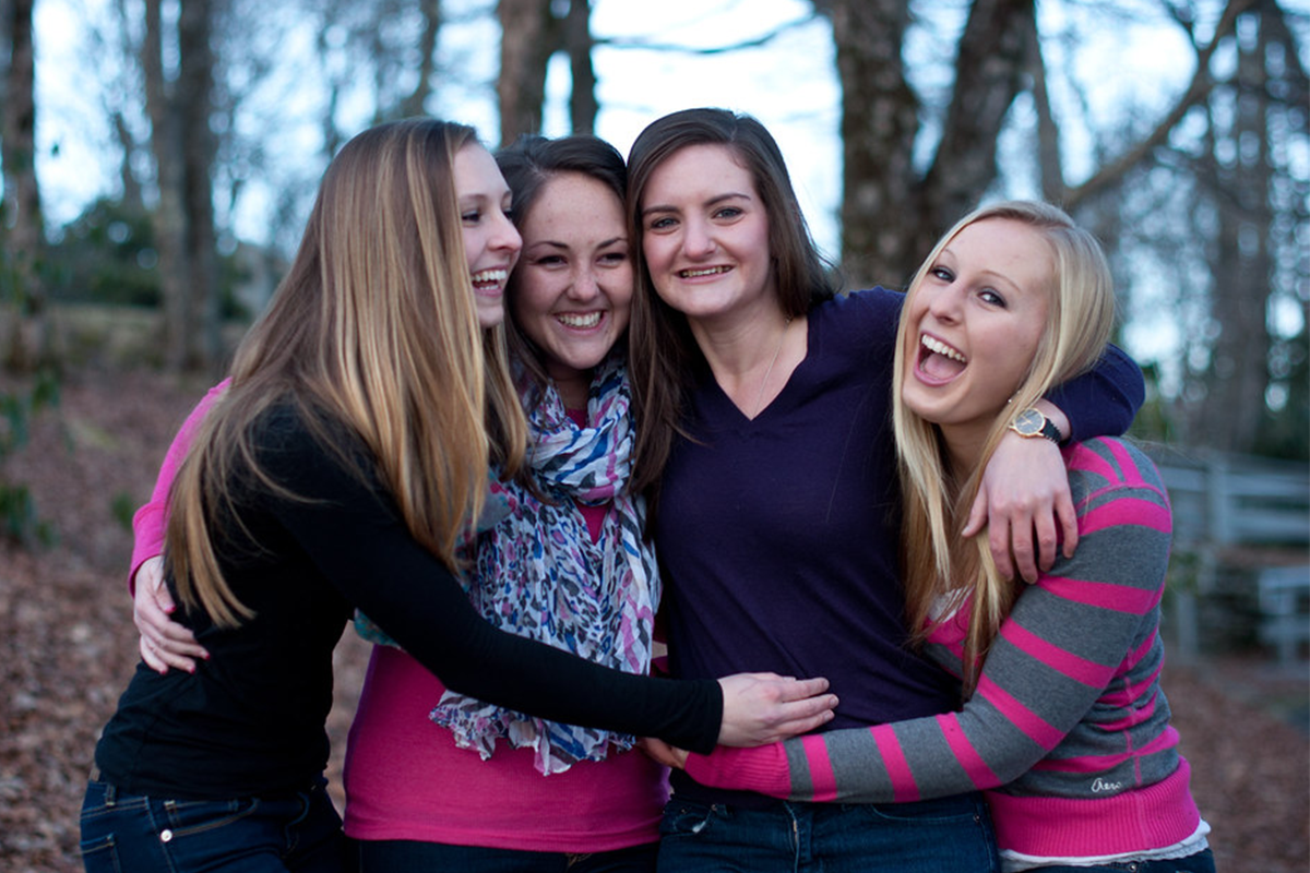
[[[778,306],[769,215],[726,145],[688,145],[650,175],[642,254],[660,298],[693,322]]]

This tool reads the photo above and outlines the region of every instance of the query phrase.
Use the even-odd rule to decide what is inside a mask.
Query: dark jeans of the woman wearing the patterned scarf
[[[567,855],[411,840],[356,840],[359,873],[655,873],[658,843]]]

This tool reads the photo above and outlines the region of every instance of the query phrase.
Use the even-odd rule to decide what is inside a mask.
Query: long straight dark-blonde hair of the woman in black
[[[500,331],[482,335],[453,178],[470,127],[407,119],[373,127],[329,165],[300,249],[242,340],[232,385],[206,416],[173,484],[165,554],[178,594],[216,624],[252,611],[223,577],[216,542],[241,527],[237,497],[262,471],[255,424],[288,404],[325,450],[376,476],[414,538],[452,569],[481,510],[487,465],[515,469],[527,427]],[[352,455],[345,431],[371,453]],[[495,444],[489,440],[489,432]]]

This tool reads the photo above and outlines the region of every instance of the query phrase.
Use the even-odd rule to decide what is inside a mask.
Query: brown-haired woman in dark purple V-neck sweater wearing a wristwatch
[[[901,294],[832,293],[777,143],[753,118],[673,113],[637,137],[627,164],[641,240],[637,479],[673,675],[825,675],[841,702],[829,729],[955,708],[955,682],[907,645],[889,411]],[[1065,387],[1039,403],[1055,438],[1123,432],[1144,393],[1117,349]],[[1013,542],[1032,579],[1034,529],[1049,565],[1057,524],[1066,551],[1076,544],[1076,516],[1055,442],[1007,440],[1001,484],[1014,487],[993,495],[990,538],[1006,569]],[[998,868],[977,792],[848,806],[709,788],[685,772],[673,792],[659,859],[669,873]]]

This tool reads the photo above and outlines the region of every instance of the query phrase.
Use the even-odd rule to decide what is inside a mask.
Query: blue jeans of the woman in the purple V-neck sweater
[[[980,794],[914,804],[706,806],[675,794],[660,823],[660,873],[996,873]]]

